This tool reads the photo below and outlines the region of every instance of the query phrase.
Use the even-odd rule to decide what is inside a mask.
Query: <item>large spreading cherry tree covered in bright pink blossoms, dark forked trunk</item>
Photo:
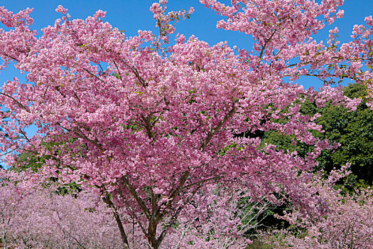
[[[159,34],[133,37],[102,21],[104,11],[72,20],[63,6],[56,9],[62,20],[37,36],[32,9],[0,8],[8,27],[0,34],[1,67],[14,62],[28,80],[9,80],[0,94],[9,110],[0,132],[7,164],[28,152],[45,158],[43,174],[94,188],[112,209],[124,248],[129,220],[120,210],[149,248],[159,248],[207,184],[240,184],[257,200],[278,201],[281,193],[307,208],[301,186],[310,175],[299,172],[334,145],[313,137],[322,129],[313,122],[318,115],[301,115],[299,102],[353,110],[360,100],[329,84],[372,79],[372,17],[367,27],[355,26],[350,43],[337,41],[337,28],[326,43],[312,38],[343,16],[342,0],[200,2],[224,16],[217,28],[252,38],[252,51],[195,36],[170,44],[174,24],[193,8],[167,12],[166,0],[151,6]],[[325,85],[306,90],[298,85],[302,75]],[[31,125],[38,130],[28,136]],[[293,134],[314,151],[299,157],[261,144],[255,134],[268,130]]]

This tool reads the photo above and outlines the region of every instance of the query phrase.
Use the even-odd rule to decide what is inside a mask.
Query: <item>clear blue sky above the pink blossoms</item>
[[[0,0],[0,6],[5,6],[6,9],[13,12],[32,7],[34,9],[32,14],[33,28],[37,31],[45,26],[53,25],[56,18],[61,18],[62,15],[55,12],[55,8],[59,4],[68,9],[72,18],[86,18],[92,16],[98,9],[102,9],[107,11],[105,21],[120,30],[125,30],[127,36],[134,36],[139,29],[157,32],[153,14],[149,11],[152,2],[150,0]],[[249,36],[215,28],[216,21],[220,19],[220,16],[215,14],[215,11],[206,9],[199,0],[169,0],[168,2],[168,10],[188,10],[190,6],[195,8],[195,13],[190,19],[178,23],[176,33],[183,33],[186,37],[195,35],[210,45],[219,41],[227,41],[229,46],[236,45],[238,48],[251,50],[252,41]],[[355,23],[364,23],[365,16],[373,15],[373,0],[345,0],[342,9],[345,10],[345,17],[337,19],[331,26],[327,26],[316,39],[325,39],[328,30],[337,26],[340,29],[340,39],[349,41],[352,26]],[[13,68],[0,72],[0,85],[15,75],[20,76]],[[20,78],[23,77],[20,76]],[[316,79],[306,78],[302,83],[307,88],[312,85],[320,85]]]

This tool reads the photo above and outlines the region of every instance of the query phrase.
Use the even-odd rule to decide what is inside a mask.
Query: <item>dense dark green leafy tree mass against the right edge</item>
[[[367,95],[364,86],[350,85],[344,89],[347,97]],[[362,102],[356,112],[347,112],[340,107],[325,107],[318,123],[325,132],[325,139],[340,144],[331,152],[323,152],[320,166],[327,171],[339,168],[347,162],[358,179],[373,183],[373,112]]]

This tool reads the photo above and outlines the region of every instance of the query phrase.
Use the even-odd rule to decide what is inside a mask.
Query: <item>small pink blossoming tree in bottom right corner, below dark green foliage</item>
[[[356,190],[356,194],[342,195],[334,189],[335,181],[349,174],[333,171],[328,180],[315,177],[308,189],[315,201],[315,210],[325,203],[323,213],[303,213],[295,210],[282,218],[291,223],[298,235],[280,231],[277,236],[283,245],[294,248],[372,248],[373,245],[373,192]],[[279,245],[279,244],[278,244]]]

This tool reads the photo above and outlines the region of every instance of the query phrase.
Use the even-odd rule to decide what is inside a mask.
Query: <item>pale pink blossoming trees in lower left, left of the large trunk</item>
[[[119,248],[112,213],[99,196],[60,195],[49,181],[1,170],[1,241],[4,248]]]

